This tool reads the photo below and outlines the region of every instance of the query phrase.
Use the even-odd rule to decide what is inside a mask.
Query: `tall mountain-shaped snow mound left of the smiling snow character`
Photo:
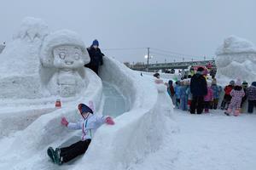
[[[38,51],[49,33],[44,21],[26,18],[20,31],[0,54],[0,98],[42,97],[39,79]]]

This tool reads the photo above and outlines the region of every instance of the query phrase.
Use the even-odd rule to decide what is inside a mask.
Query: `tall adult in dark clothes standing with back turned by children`
[[[207,80],[203,77],[204,68],[199,67],[196,74],[191,78],[190,91],[193,95],[191,102],[190,113],[201,114],[203,111],[204,96],[207,95]]]

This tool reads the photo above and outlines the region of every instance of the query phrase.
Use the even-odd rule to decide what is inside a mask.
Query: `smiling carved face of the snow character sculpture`
[[[58,46],[53,49],[54,65],[59,69],[76,69],[84,66],[83,52],[76,46]]]

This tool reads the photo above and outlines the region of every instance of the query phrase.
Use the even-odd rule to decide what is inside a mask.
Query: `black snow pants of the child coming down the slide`
[[[80,156],[85,153],[90,144],[90,139],[79,141],[77,143],[71,144],[68,147],[60,148],[61,149],[61,159],[63,162],[72,160],[73,158]]]

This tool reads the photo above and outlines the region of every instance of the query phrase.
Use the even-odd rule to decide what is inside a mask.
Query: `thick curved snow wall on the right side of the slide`
[[[113,127],[98,129],[74,169],[126,169],[158,150],[166,127],[172,125],[172,100],[163,84],[147,81],[111,58],[104,59],[101,73],[102,80],[119,87],[131,108],[115,119]]]

